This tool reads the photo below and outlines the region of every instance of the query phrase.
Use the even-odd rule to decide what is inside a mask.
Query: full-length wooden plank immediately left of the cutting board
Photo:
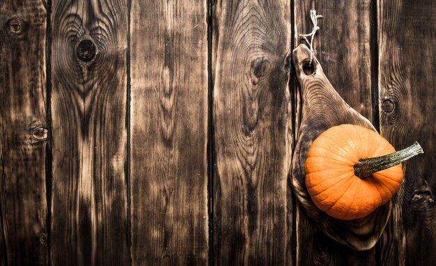
[[[290,1],[212,14],[215,264],[290,265]]]

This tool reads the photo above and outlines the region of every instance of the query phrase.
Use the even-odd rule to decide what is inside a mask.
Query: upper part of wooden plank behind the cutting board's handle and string
[[[300,34],[310,33],[309,10],[316,9],[320,30],[315,54],[334,88],[350,107],[372,119],[370,1],[295,1],[295,44]]]

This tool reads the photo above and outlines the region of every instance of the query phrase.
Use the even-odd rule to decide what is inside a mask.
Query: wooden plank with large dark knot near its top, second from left
[[[52,1],[53,265],[127,265],[127,1]]]

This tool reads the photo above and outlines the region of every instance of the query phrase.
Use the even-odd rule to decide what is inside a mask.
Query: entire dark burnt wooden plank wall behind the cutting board
[[[311,31],[334,88],[419,141],[376,247],[299,208]],[[1,0],[0,265],[436,265],[433,0]]]

